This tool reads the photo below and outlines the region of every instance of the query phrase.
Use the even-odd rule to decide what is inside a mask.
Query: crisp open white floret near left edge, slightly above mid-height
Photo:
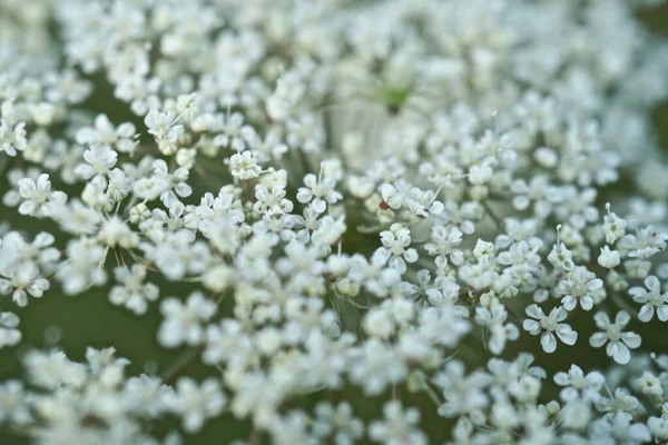
[[[19,206],[21,215],[30,215],[37,218],[53,216],[67,201],[67,195],[62,191],[51,190],[49,175],[42,174],[37,180],[23,178],[19,180],[19,195],[23,199]]]

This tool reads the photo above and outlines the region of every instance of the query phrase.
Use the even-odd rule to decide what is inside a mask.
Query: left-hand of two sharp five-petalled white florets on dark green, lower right
[[[568,313],[563,307],[553,308],[549,316],[546,316],[538,305],[530,305],[525,312],[533,319],[525,319],[522,326],[531,335],[540,334],[540,344],[546,353],[551,354],[557,350],[554,334],[567,345],[572,346],[576,344],[578,333],[572,330],[570,325],[560,323],[568,317]]]

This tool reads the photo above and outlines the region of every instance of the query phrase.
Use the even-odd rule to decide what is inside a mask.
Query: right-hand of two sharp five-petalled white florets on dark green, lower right
[[[640,346],[640,336],[636,333],[623,333],[622,329],[629,324],[631,317],[628,313],[620,310],[615,317],[615,323],[610,322],[608,315],[598,313],[593,316],[596,326],[602,329],[602,333],[592,334],[589,344],[593,347],[601,347],[605,344],[606,354],[612,357],[615,362],[626,365],[631,359],[629,348],[635,349]]]

